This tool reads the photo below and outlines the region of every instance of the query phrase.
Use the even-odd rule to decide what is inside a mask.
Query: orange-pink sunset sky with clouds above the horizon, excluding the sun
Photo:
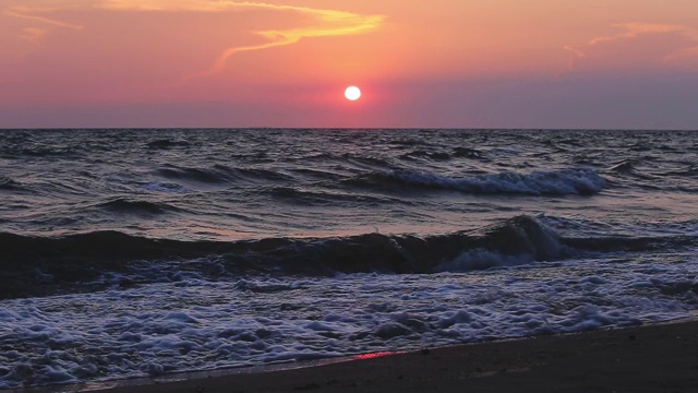
[[[695,0],[0,0],[0,128],[698,129],[696,103]]]

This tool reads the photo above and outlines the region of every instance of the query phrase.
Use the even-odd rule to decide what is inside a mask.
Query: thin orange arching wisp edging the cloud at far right
[[[685,41],[681,49],[672,49],[673,51],[671,53],[664,55],[658,60],[665,63],[677,64],[679,61],[698,58],[698,29],[696,28],[683,25],[652,23],[619,23],[611,26],[621,29],[621,32],[614,35],[594,37],[583,45],[566,45],[563,47],[563,49],[573,55],[568,64],[570,70],[574,70],[575,68],[575,59],[588,57],[589,52],[594,47],[610,44],[622,44],[624,41],[658,34],[674,34]]]

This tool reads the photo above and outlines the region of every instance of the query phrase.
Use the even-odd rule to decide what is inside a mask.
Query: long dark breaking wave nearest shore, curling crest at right
[[[60,238],[0,233],[0,243],[7,245],[0,254],[0,298],[183,277],[238,281],[251,274],[469,272],[587,253],[678,249],[697,242],[688,235],[562,237],[530,216],[477,231],[428,237],[374,233],[226,242],[152,239],[119,231]]]

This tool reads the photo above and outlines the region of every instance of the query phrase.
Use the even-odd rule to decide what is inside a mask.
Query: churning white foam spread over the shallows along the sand
[[[1,301],[0,347],[13,349],[0,352],[0,388],[577,332],[686,317],[698,307],[693,251],[526,265],[461,257],[500,267],[184,278]]]

